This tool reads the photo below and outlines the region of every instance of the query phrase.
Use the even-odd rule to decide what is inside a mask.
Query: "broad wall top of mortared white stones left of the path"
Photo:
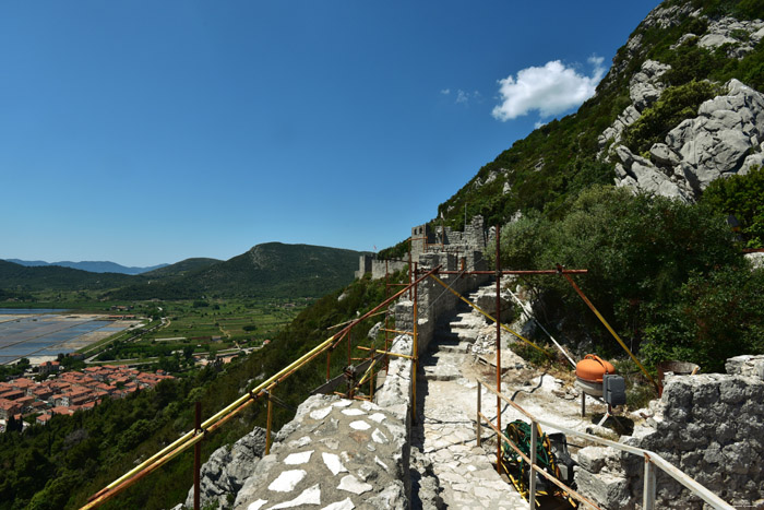
[[[278,432],[236,497],[237,509],[407,508],[406,427],[382,407],[313,395]]]

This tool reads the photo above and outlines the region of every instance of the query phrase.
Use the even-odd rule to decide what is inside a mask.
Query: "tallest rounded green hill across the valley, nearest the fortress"
[[[225,262],[212,259],[179,262],[141,275],[140,281],[110,292],[108,297],[321,297],[353,282],[360,254],[338,248],[267,242]]]

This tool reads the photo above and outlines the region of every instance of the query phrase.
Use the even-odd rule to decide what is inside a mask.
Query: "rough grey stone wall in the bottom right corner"
[[[654,451],[733,506],[764,507],[764,356],[727,361],[727,375],[669,376],[652,416],[626,444]],[[578,452],[578,490],[608,509],[642,503],[644,461],[611,448]],[[658,470],[656,508],[703,501]]]

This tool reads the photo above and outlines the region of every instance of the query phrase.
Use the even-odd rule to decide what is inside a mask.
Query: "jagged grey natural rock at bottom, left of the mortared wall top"
[[[260,427],[242,437],[232,448],[220,447],[210,455],[201,471],[201,503],[229,506],[244,485],[255,464],[265,452],[265,430]],[[186,507],[193,508],[193,487],[186,498]]]

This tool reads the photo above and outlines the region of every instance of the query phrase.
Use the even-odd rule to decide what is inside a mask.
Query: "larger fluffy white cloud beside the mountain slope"
[[[592,56],[587,61],[594,68],[590,76],[552,60],[542,68],[523,69],[516,78],[499,80],[502,103],[491,114],[505,121],[538,110],[544,119],[580,106],[594,95],[605,74],[602,57]]]

